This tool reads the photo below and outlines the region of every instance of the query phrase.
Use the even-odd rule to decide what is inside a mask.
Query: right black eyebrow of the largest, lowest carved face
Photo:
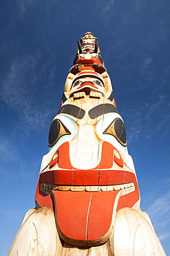
[[[116,109],[112,104],[100,104],[89,110],[89,117],[94,119],[98,116],[104,115],[105,113],[118,113],[118,109]]]

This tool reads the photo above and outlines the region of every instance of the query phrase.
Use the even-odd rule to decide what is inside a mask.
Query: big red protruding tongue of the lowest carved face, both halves
[[[91,241],[107,233],[118,191],[53,193],[56,221],[63,237]]]

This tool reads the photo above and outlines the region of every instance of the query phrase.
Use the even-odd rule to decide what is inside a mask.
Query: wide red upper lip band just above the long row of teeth
[[[54,170],[40,175],[40,183],[55,185],[119,185],[131,182],[136,182],[134,173],[120,170]]]

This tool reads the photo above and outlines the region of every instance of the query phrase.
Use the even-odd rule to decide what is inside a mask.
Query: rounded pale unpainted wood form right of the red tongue
[[[132,208],[118,210],[114,226],[114,256],[165,255],[156,232],[147,219],[141,211]]]

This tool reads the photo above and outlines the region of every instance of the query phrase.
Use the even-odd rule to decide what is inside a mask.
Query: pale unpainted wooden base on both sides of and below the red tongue
[[[61,241],[54,212],[43,207],[25,215],[8,256],[151,256],[165,255],[145,212],[123,208],[116,213],[111,236],[101,246],[76,247]]]

